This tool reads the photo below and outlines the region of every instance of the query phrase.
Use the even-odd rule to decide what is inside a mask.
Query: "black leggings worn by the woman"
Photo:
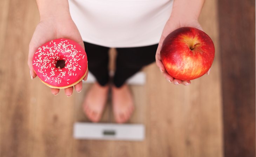
[[[88,58],[88,69],[95,76],[100,85],[109,83],[108,50],[109,47],[95,45],[87,42],[85,51]],[[158,44],[142,47],[116,48],[116,71],[113,83],[121,87],[130,76],[155,61]]]

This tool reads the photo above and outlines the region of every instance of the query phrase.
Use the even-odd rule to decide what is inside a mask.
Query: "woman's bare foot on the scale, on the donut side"
[[[96,82],[85,96],[83,111],[93,122],[98,122],[101,119],[108,98],[108,89],[109,84],[103,87]]]

